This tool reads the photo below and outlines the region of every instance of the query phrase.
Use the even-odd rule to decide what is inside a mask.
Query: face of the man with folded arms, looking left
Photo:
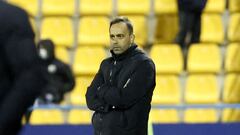
[[[115,54],[125,52],[133,43],[134,35],[129,34],[127,25],[123,22],[113,24],[110,28],[110,49]]]

